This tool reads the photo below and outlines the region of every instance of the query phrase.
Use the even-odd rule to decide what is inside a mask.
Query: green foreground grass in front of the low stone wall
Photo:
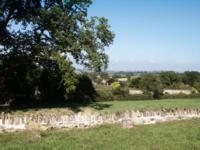
[[[123,129],[105,125],[86,130],[0,134],[2,150],[199,150],[200,119]],[[41,135],[41,137],[37,137]]]

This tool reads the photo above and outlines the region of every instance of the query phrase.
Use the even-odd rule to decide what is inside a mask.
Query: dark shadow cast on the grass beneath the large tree
[[[74,113],[81,112],[84,107],[89,107],[94,110],[103,110],[111,107],[112,104],[97,103],[97,102],[87,102],[87,103],[75,103],[75,102],[62,102],[59,104],[47,104],[47,103],[38,103],[38,104],[29,104],[29,105],[20,105],[20,106],[8,106],[0,105],[1,112],[15,112],[23,111],[28,112],[30,110],[39,111],[40,109],[69,109]]]

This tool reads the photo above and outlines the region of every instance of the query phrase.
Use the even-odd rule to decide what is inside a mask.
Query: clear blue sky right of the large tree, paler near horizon
[[[200,71],[200,0],[93,0],[115,33],[108,70]]]

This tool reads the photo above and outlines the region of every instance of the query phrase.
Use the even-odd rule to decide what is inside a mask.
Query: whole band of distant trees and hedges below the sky
[[[143,95],[141,99],[143,97],[152,97],[153,99],[160,99],[162,96],[165,97],[166,95],[163,95],[164,89],[188,89],[192,93],[200,92],[200,73],[197,71],[186,71],[183,73],[174,71],[104,72],[100,74],[90,72],[87,75],[97,84],[97,88],[100,88],[100,93],[104,94],[103,97],[107,98],[109,94],[110,97],[119,96],[123,99],[123,97],[128,95],[129,89],[142,90],[147,97]],[[127,79],[127,81],[122,82],[120,79]],[[101,84],[105,86],[98,86]],[[110,87],[106,90],[107,94],[102,92],[106,86]],[[134,97],[130,97],[130,99],[132,98],[134,99]]]

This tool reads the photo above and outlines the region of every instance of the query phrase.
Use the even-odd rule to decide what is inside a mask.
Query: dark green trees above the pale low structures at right
[[[129,87],[153,92],[154,98],[159,98],[163,89],[195,89],[200,91],[200,73],[173,71],[144,74],[130,79]]]

